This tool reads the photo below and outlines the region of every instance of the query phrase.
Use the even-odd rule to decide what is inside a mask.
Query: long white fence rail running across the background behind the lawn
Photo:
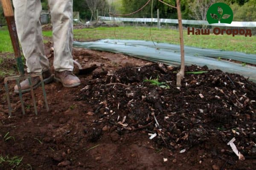
[[[122,18],[122,17],[103,17],[99,16],[100,20],[112,20],[112,21],[125,21],[125,22],[142,22],[142,23],[148,23],[148,22],[154,22],[157,23],[157,18]],[[177,19],[160,19],[160,23],[178,23]],[[231,24],[227,23],[214,23],[209,24],[207,21],[203,20],[182,20],[183,24],[188,25],[211,25],[211,26],[229,26],[229,27],[256,27],[256,21],[254,22],[239,22],[239,21],[233,21]]]

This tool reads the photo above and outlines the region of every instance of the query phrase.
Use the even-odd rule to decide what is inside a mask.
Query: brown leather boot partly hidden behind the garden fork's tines
[[[43,79],[44,79],[44,84],[48,84],[48,83],[51,83],[53,81],[53,76],[52,76],[50,70],[42,72],[42,76],[43,76]],[[32,77],[31,81],[32,81],[33,89],[35,89],[39,85],[41,85],[41,81],[40,81],[39,77]],[[26,80],[20,82],[20,87],[21,87],[21,92],[22,93],[29,92],[30,91],[29,79],[27,78]],[[19,89],[18,89],[17,85],[15,85],[15,87],[14,87],[14,92],[17,93],[17,94],[19,93]]]

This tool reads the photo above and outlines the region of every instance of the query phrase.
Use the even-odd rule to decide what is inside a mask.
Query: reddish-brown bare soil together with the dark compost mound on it
[[[52,63],[51,46],[45,45]],[[240,75],[189,66],[186,72],[208,72],[186,74],[177,89],[178,68],[108,52],[73,51],[83,66],[102,66],[79,75],[78,88],[47,84],[49,112],[38,88],[38,116],[29,93],[23,95],[22,115],[12,92],[14,113],[9,117],[0,80],[0,155],[23,157],[14,169],[256,169],[256,84]],[[8,63],[1,69],[15,66],[14,60]],[[145,81],[157,78],[169,89]],[[14,138],[5,140],[8,132]],[[148,134],[154,133],[150,140]],[[227,145],[233,137],[244,161]],[[0,169],[12,166],[4,163]]]

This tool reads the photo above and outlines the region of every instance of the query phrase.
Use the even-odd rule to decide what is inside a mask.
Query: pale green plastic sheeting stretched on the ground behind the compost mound
[[[180,46],[168,43],[153,43],[152,41],[143,40],[106,39],[89,42],[75,41],[73,46],[98,51],[121,53],[148,61],[165,63],[167,65],[180,65]],[[216,58],[225,58],[256,64],[256,55],[185,46],[186,65],[206,65],[209,69],[220,69],[223,72],[236,73],[243,75],[246,78],[249,77],[249,80],[256,82],[255,66],[242,66],[241,64],[230,61],[219,61]]]

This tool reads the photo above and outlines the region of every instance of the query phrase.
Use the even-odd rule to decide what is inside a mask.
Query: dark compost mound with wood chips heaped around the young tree
[[[200,74],[185,74],[177,88],[177,71],[154,63],[95,73],[78,100],[94,105],[94,122],[115,125],[119,135],[141,130],[179,152],[209,137],[226,143],[235,137],[245,157],[256,156],[256,84],[240,75],[189,66],[185,72]]]

